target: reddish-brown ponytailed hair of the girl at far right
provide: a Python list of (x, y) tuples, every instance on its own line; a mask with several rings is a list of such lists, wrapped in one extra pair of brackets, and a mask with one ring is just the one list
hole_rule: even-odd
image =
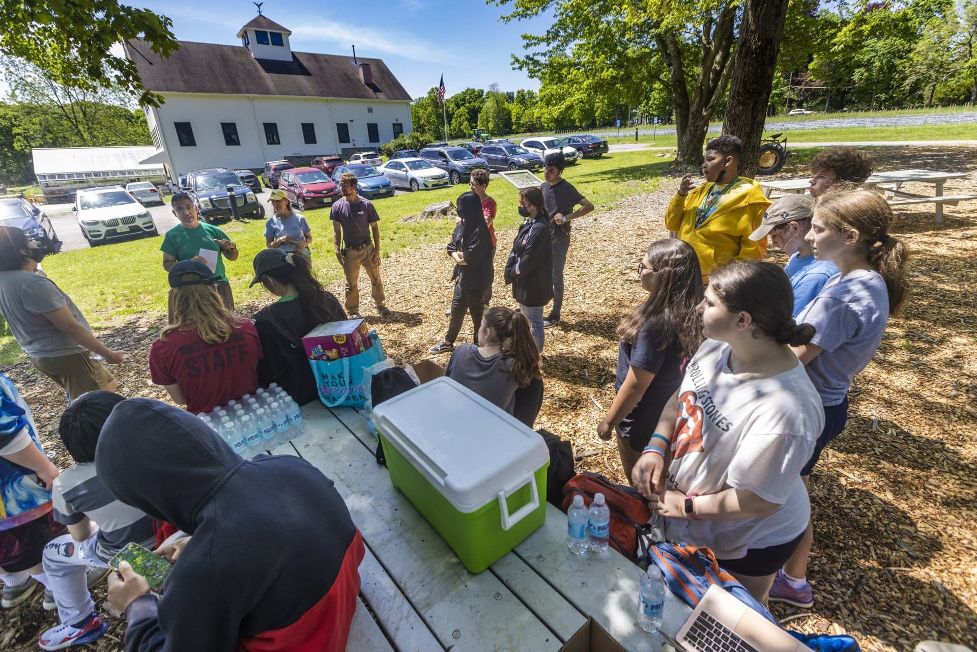
[(867, 247), (866, 258), (885, 281), (889, 314), (898, 315), (909, 294), (906, 245), (889, 234), (892, 208), (881, 196), (864, 189), (831, 189), (818, 198), (815, 214), (835, 231), (858, 231)]

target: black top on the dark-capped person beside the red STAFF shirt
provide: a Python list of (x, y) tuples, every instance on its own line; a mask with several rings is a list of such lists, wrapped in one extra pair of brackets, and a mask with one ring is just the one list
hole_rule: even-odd
[[(328, 322), (346, 320), (346, 311), (330, 292), (326, 292)], [(258, 384), (278, 383), (295, 403), (302, 406), (319, 398), (316, 377), (306, 356), (302, 337), (319, 326), (309, 317), (302, 299), (276, 301), (254, 316), (265, 357), (258, 361)]]

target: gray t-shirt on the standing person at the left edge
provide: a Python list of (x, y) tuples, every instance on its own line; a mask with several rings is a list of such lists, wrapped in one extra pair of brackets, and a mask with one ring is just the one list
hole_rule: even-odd
[(85, 316), (55, 282), (21, 270), (0, 272), (0, 314), (28, 356), (57, 358), (86, 350), (44, 317), (64, 306), (91, 330)]

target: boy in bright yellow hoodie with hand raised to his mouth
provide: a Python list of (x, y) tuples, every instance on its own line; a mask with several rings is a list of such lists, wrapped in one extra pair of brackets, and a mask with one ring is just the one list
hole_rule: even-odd
[(693, 189), (693, 175), (682, 177), (678, 193), (665, 211), (665, 228), (678, 233), (699, 256), (702, 281), (734, 261), (760, 260), (765, 241), (749, 235), (760, 226), (770, 199), (760, 184), (738, 174), (743, 143), (736, 136), (713, 138), (705, 145), (702, 175)]

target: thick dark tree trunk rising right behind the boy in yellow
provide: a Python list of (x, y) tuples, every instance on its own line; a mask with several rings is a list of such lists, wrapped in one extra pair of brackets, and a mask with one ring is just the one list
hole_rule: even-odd
[(786, 13), (787, 0), (746, 0), (743, 6), (723, 133), (743, 141), (739, 170), (744, 177), (756, 172)]

